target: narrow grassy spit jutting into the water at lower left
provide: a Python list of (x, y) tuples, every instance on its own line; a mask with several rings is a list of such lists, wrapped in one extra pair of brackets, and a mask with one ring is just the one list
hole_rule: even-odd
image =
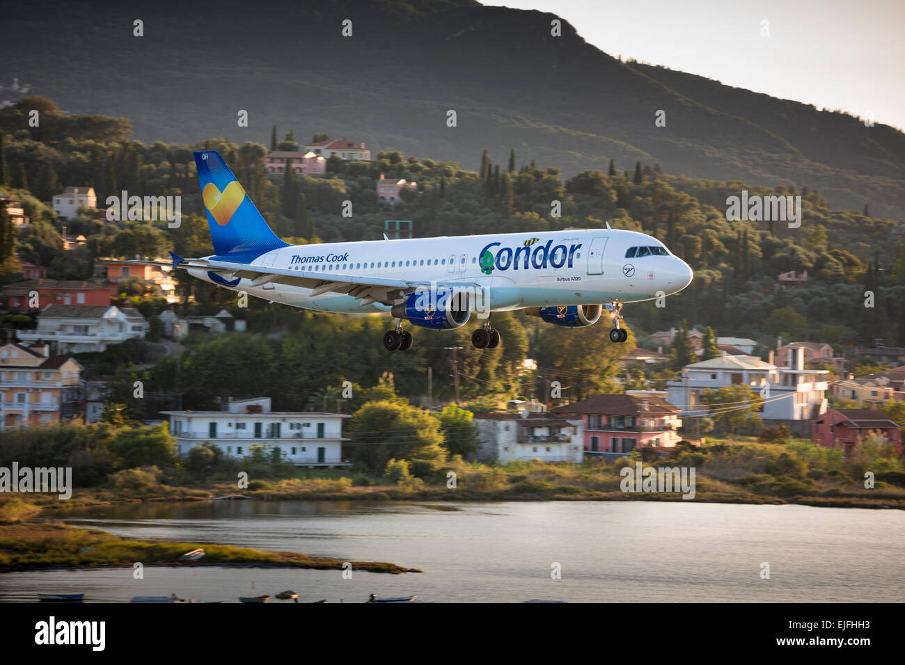
[[(10, 504), (19, 504), (10, 509)], [(230, 565), (280, 568), (342, 569), (340, 559), (307, 556), (297, 552), (263, 552), (248, 547), (207, 545), (199, 543), (155, 543), (114, 536), (92, 528), (69, 527), (46, 522), (18, 520), (24, 504), (19, 499), (0, 505), (0, 572), (39, 570), (45, 568), (132, 567), (143, 565)], [(30, 518), (34, 509), (25, 511)], [(179, 561), (179, 556), (203, 546), (200, 561)], [(352, 561), (355, 570), (372, 573), (420, 573), (415, 568), (379, 561)]]

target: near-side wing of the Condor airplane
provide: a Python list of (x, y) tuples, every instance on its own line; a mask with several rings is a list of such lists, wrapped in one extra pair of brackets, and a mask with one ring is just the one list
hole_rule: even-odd
[[(419, 286), (429, 287), (424, 281), (392, 280), (373, 275), (356, 275), (344, 271), (331, 271), (325, 274), (322, 271), (290, 270), (288, 268), (274, 268), (272, 266), (253, 266), (247, 263), (233, 261), (219, 261), (215, 259), (183, 259), (170, 252), (173, 257), (173, 268), (201, 268), (214, 273), (224, 284), (231, 280), (251, 280), (249, 287), (268, 288), (271, 284), (285, 284), (310, 289), (311, 296), (319, 296), (321, 293), (343, 293), (361, 300), (360, 306), (364, 307), (375, 302), (385, 305), (394, 305), (402, 302), (405, 295), (413, 292)], [(466, 282), (443, 281), (444, 286), (449, 287), (477, 287), (477, 284)], [(228, 284), (226, 284), (228, 285)]]

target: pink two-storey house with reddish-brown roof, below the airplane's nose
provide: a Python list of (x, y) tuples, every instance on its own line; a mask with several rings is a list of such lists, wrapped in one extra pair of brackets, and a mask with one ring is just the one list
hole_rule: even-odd
[(640, 448), (673, 448), (682, 437), (681, 409), (662, 397), (638, 394), (598, 394), (560, 406), (557, 416), (580, 419), (586, 455), (627, 453)]

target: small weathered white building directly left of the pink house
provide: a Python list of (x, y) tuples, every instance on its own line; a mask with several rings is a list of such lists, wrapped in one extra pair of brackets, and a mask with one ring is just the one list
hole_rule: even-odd
[(580, 420), (530, 417), (530, 413), (475, 413), (481, 450), (479, 461), (515, 460), (570, 461), (581, 463), (582, 432)]

